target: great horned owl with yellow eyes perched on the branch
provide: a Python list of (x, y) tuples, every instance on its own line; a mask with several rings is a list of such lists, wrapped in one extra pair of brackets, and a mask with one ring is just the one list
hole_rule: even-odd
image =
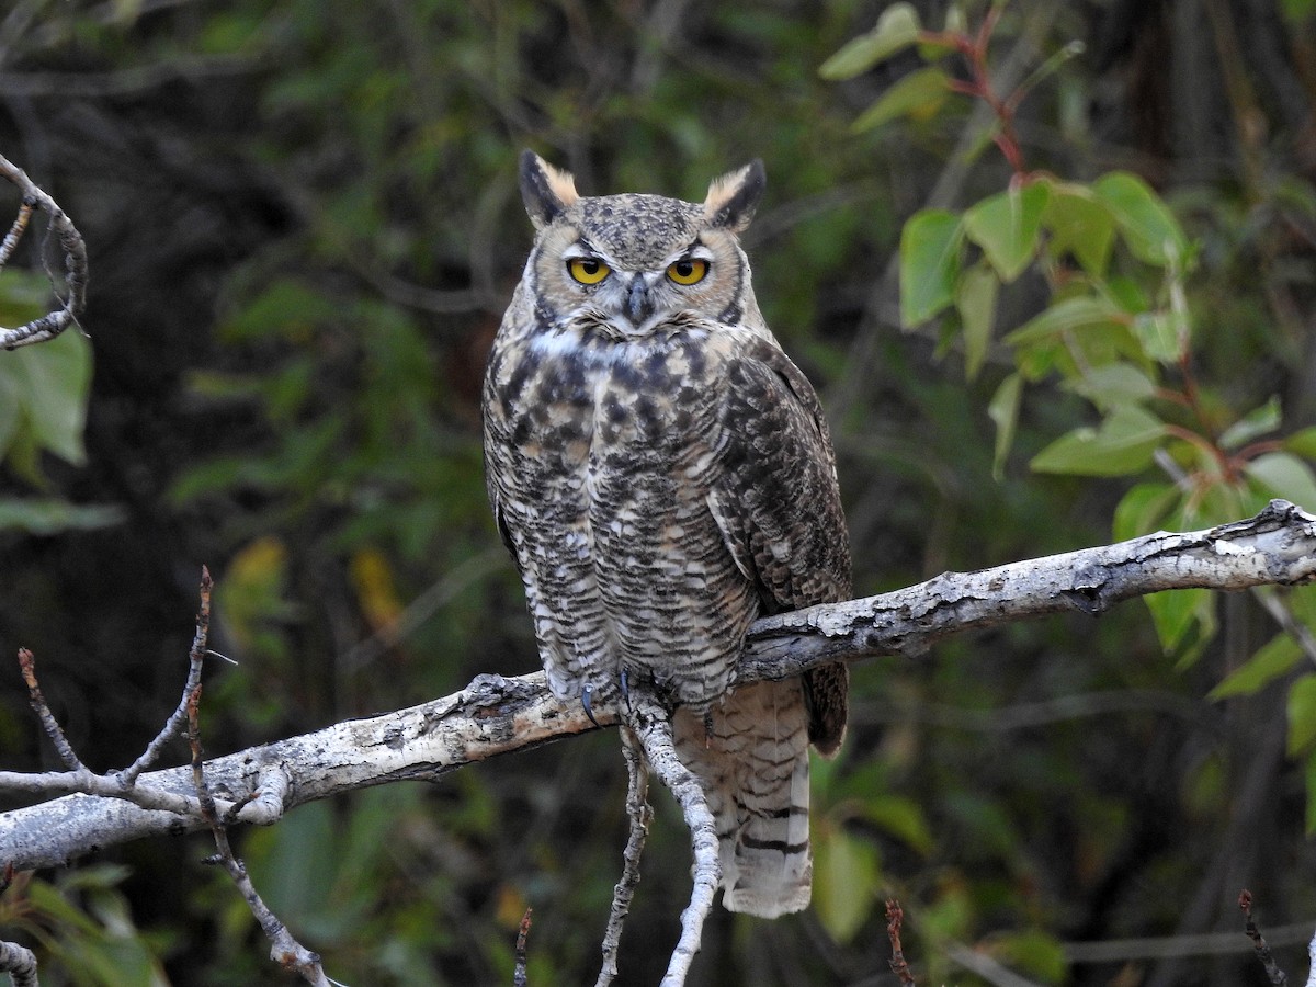
[(775, 917), (809, 901), (808, 745), (840, 746), (848, 678), (737, 688), (736, 665), (759, 615), (848, 599), (850, 550), (817, 395), (737, 240), (763, 184), (755, 161), (703, 203), (584, 197), (526, 151), (537, 237), (490, 355), (484, 459), (549, 687), (679, 704), (722, 903)]

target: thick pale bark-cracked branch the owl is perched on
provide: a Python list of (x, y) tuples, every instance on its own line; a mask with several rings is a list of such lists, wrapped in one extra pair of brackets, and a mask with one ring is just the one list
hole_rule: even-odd
[[(1316, 517), (1277, 500), (1254, 519), (1209, 530), (1162, 532), (976, 572), (946, 572), (882, 596), (766, 617), (750, 628), (740, 682), (788, 678), (833, 661), (919, 655), (963, 630), (1073, 609), (1096, 615), (1161, 590), (1244, 590), (1313, 578)], [(594, 713), (601, 726), (619, 722), (615, 708), (596, 704)], [(472, 761), (591, 729), (578, 703), (562, 704), (549, 694), (542, 674), (480, 675), (455, 695), (220, 757), (205, 770), (224, 819), (263, 824), (305, 801), (434, 779)], [(143, 772), (132, 788), (91, 772), (0, 771), (0, 791), (67, 796), (0, 815), (0, 861), (20, 870), (59, 866), (151, 834), (205, 828), (186, 767)], [(70, 795), (86, 791), (96, 795)]]

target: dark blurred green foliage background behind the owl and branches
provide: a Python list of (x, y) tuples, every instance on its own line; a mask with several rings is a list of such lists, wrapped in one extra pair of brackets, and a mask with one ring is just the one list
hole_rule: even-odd
[[(55, 766), (3, 671), (20, 646), (89, 766), (141, 751), (178, 701), (203, 565), (212, 645), (241, 662), (208, 669), (211, 754), (538, 667), (478, 404), (530, 243), (522, 147), (584, 193), (694, 200), (765, 161), (746, 247), (833, 424), (857, 594), (1108, 542), (1128, 478), (1028, 468), (1090, 407), (1030, 388), (994, 476), (1008, 359), (966, 383), (945, 326), (899, 328), (904, 220), (1011, 171), (973, 139), (967, 100), (853, 129), (921, 64), (911, 50), (820, 78), (883, 7), (11, 0), (0, 153), (78, 224), (91, 283), (89, 341), (0, 353), (3, 766)], [(941, 0), (916, 7), (946, 20)], [(1166, 197), (1200, 245), (1203, 386), (1244, 407), (1279, 395), (1290, 428), (1316, 421), (1312, 8), (1011, 0), (991, 47), (1026, 71), (1084, 42), (1020, 108), (1030, 167), (1124, 168)], [(0, 213), (18, 205), (5, 195)], [(0, 324), (49, 307), (42, 230), (0, 275)], [(1023, 279), (999, 325), (1041, 301)], [(895, 983), (887, 896), (928, 983), (1263, 984), (1242, 887), (1302, 976), (1316, 891), (1286, 691), (1207, 699), (1275, 628), (1246, 595), (1216, 617), (1179, 654), (1133, 601), (857, 667), (849, 740), (816, 770), (816, 907), (776, 923), (717, 908), (691, 984)], [(530, 983), (590, 983), (625, 783), (609, 730), (234, 836), (345, 983), (509, 983), (526, 907)], [(686, 830), (654, 800), (622, 983), (658, 982), (688, 896)], [(21, 878), (0, 936), (37, 945), (51, 984), (288, 982), (201, 866), (212, 849), (158, 840)], [(971, 955), (1024, 979), (957, 961)]]

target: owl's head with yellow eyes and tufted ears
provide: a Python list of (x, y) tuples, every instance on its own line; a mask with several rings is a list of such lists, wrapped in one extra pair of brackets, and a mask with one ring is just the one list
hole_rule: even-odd
[(761, 321), (737, 234), (763, 195), (753, 161), (708, 186), (703, 203), (658, 195), (582, 196), (566, 171), (521, 155), (521, 196), (538, 234), (530, 255), (538, 304), (616, 338), (653, 333), (676, 313)]

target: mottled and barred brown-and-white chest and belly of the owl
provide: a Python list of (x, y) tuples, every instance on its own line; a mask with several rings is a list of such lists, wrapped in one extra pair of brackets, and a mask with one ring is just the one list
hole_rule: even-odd
[(501, 508), (562, 696), (613, 699), (622, 671), (696, 707), (729, 686), (758, 612), (707, 497), (737, 336), (678, 318), (636, 340), (569, 325), (495, 350)]

